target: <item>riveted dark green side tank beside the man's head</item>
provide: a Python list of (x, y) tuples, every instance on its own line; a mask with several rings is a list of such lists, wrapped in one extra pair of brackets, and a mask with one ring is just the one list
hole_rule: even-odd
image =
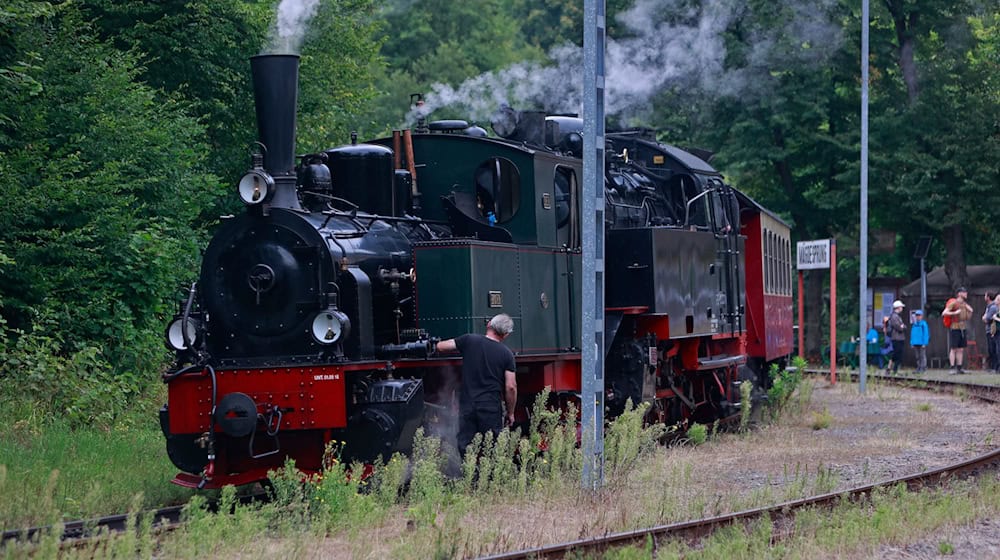
[(506, 243), (460, 240), (417, 244), (417, 325), (431, 336), (452, 338), (486, 332), (486, 322), (498, 313), (514, 320), (506, 343), (523, 350), (520, 258), (518, 247)]

